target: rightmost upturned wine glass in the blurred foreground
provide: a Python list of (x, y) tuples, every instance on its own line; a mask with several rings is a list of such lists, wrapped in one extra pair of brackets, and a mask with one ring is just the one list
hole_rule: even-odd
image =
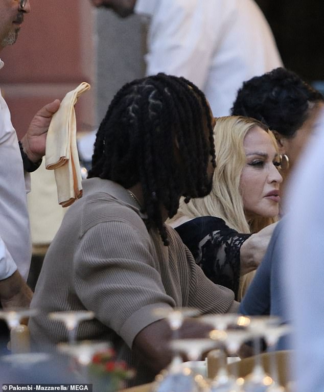
[(278, 367), (276, 363), (276, 356), (275, 356), (275, 351), (272, 349), (275, 349), (275, 346), (279, 339), (290, 333), (292, 330), (291, 326), (288, 324), (281, 324), (279, 326), (276, 325), (269, 325), (266, 327), (265, 331), (265, 340), (266, 343), (270, 349), (270, 373), (271, 373), (271, 378), (273, 380), (272, 384), (269, 386), (267, 389), (267, 392), (284, 392), (285, 388), (280, 385), (279, 383), (279, 377), (278, 377)]

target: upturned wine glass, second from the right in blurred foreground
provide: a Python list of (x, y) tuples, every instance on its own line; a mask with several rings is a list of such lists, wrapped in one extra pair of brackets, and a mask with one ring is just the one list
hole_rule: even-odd
[(253, 337), (254, 366), (252, 372), (245, 377), (245, 392), (265, 392), (271, 383), (272, 378), (266, 374), (261, 361), (261, 338), (265, 336), (265, 331), (269, 326), (278, 326), (280, 318), (277, 316), (246, 316), (246, 328)]

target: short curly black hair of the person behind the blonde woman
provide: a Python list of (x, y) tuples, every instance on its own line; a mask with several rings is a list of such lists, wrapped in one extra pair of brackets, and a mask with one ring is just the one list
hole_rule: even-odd
[(279, 67), (244, 82), (231, 114), (252, 117), (284, 137), (293, 137), (308, 118), (309, 103), (319, 101), (324, 101), (319, 91)]

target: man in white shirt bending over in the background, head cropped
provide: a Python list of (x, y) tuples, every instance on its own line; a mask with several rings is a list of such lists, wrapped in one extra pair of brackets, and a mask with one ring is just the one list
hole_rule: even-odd
[(254, 0), (91, 0), (120, 16), (150, 17), (146, 75), (184, 76), (227, 116), (243, 81), (282, 66)]

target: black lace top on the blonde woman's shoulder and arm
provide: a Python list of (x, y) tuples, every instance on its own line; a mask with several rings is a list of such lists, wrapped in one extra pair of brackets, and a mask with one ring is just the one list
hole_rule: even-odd
[(250, 234), (239, 234), (223, 219), (212, 216), (192, 219), (175, 229), (207, 278), (232, 289), (237, 298), (240, 249)]

